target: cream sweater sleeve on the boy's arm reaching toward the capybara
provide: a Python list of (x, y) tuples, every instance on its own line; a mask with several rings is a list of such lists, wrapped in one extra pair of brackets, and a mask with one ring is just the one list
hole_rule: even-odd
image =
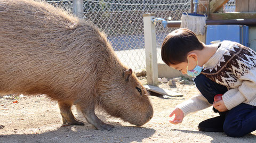
[(177, 105), (176, 108), (180, 108), (184, 116), (186, 116), (189, 113), (203, 110), (211, 105), (203, 95), (197, 95)]

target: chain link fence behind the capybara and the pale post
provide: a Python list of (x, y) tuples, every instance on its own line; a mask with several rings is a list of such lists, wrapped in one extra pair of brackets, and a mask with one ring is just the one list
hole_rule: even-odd
[[(234, 12), (235, 0), (225, 5), (226, 12)], [(73, 12), (73, 1), (47, 1)], [(146, 69), (143, 17), (155, 13), (157, 18), (180, 20), (182, 12), (190, 12), (191, 0), (85, 0), (84, 19), (93, 22), (107, 34), (119, 60), (135, 72)], [(157, 59), (161, 60), (161, 45), (167, 33), (177, 28), (156, 25)], [(162, 60), (161, 60), (162, 61)]]

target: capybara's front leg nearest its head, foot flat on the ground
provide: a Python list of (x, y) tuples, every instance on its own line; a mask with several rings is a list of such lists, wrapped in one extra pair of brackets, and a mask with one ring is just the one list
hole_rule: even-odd
[(80, 110), (82, 111), (83, 115), (85, 116), (85, 119), (87, 120), (87, 122), (89, 122), (90, 124), (92, 124), (96, 129), (98, 130), (111, 130), (112, 128), (114, 128), (114, 125), (111, 124), (106, 124), (104, 122), (102, 122), (96, 115), (94, 112), (94, 107), (89, 107), (89, 108), (80, 108)]

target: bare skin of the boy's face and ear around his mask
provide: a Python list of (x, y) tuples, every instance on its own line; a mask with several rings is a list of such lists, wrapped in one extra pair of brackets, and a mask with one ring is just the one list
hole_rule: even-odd
[(169, 65), (171, 68), (179, 70), (182, 74), (187, 74), (187, 70), (193, 70), (196, 67), (196, 59), (193, 57), (188, 57), (188, 62), (181, 62), (179, 64), (171, 64)]

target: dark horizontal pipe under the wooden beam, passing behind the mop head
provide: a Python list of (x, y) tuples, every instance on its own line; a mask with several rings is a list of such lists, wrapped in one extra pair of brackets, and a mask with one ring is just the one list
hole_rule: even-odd
[[(167, 21), (167, 27), (180, 27), (181, 21)], [(256, 26), (256, 19), (207, 20), (206, 25), (246, 25)]]

